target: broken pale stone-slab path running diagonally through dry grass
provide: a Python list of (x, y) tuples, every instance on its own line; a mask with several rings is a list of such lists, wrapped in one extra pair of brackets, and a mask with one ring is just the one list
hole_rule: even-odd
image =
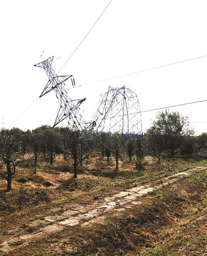
[(25, 246), (35, 238), (62, 231), (65, 225), (75, 226), (81, 224), (82, 226), (85, 226), (89, 223), (105, 218), (105, 213), (110, 211), (124, 211), (125, 208), (131, 208), (139, 204), (140, 202), (137, 199), (142, 195), (153, 192), (154, 190), (159, 190), (161, 187), (174, 183), (181, 177), (189, 176), (197, 170), (202, 171), (205, 169), (206, 168), (198, 167), (184, 172), (179, 172), (173, 176), (164, 178), (161, 184), (151, 187), (132, 187), (126, 191), (119, 192), (112, 197), (106, 197), (104, 199), (104, 204), (94, 203), (88, 206), (76, 205), (72, 209), (64, 211), (61, 215), (51, 215), (46, 216), (44, 219), (37, 219), (29, 224), (29, 227), (35, 227), (38, 229), (36, 232), (23, 234), (21, 236), (11, 237), (7, 235), (0, 237), (0, 241), (2, 241), (2, 244), (0, 244), (0, 251), (7, 252), (16, 249), (19, 246)]

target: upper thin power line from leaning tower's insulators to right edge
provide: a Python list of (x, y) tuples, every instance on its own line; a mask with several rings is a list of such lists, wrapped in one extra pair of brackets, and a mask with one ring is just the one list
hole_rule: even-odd
[(160, 68), (164, 68), (164, 67), (166, 67), (166, 66), (171, 66), (171, 65), (175, 65), (175, 64), (180, 64), (180, 63), (183, 63), (183, 62), (192, 61), (192, 60), (197, 60), (197, 59), (201, 59), (201, 58), (205, 58), (205, 57), (207, 57), (207, 55), (199, 56), (199, 57), (192, 58), (192, 59), (187, 59), (187, 60), (181, 60), (181, 61), (177, 61), (177, 62), (172, 62), (172, 63), (168, 63), (168, 64), (161, 65), (161, 66), (155, 66), (155, 67), (153, 67), (153, 68), (149, 68), (149, 69), (145, 69), (145, 70), (139, 70), (139, 71), (131, 72), (131, 73), (124, 74), (124, 75), (113, 76), (113, 77), (109, 77), (109, 78), (97, 80), (97, 81), (94, 81), (94, 82), (90, 82), (90, 83), (87, 83), (87, 84), (83, 84), (83, 85), (80, 85), (79, 87), (86, 86), (86, 85), (91, 85), (91, 84), (96, 84), (96, 83), (104, 82), (104, 81), (107, 81), (107, 80), (111, 80), (111, 79), (115, 79), (115, 78), (119, 78), (119, 77), (123, 77), (123, 76), (134, 75), (134, 74), (138, 74), (138, 73), (142, 73), (142, 72), (146, 72), (146, 71), (150, 71), (150, 70), (160, 69)]

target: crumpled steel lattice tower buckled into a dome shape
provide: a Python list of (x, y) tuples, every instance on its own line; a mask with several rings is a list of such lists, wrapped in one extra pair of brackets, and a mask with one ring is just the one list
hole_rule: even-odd
[(98, 131), (118, 132), (129, 139), (142, 134), (139, 100), (136, 93), (126, 86), (109, 86), (108, 91), (101, 95), (92, 119)]

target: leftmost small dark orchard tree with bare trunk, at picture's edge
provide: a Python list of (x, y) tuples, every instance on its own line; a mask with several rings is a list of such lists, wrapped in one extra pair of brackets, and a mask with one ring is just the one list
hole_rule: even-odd
[[(16, 173), (16, 167), (22, 161), (22, 142), (19, 138), (19, 129), (2, 129), (0, 131), (0, 157), (6, 167), (5, 179), (7, 191), (11, 190), (11, 180)], [(4, 168), (4, 167), (3, 167)]]

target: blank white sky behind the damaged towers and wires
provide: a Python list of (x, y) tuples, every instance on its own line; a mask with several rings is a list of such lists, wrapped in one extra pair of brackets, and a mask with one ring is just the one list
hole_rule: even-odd
[[(33, 65), (54, 56), (57, 72), (109, 0), (0, 1), (0, 122), (8, 128), (40, 95), (46, 73)], [(207, 58), (91, 85), (80, 85), (207, 54), (205, 0), (113, 0), (59, 75), (73, 75), (72, 99), (86, 98), (90, 120), (100, 93), (124, 84), (137, 93), (141, 110), (207, 99)], [(59, 28), (59, 29), (58, 29)], [(58, 29), (58, 31), (57, 31)], [(40, 58), (41, 52), (45, 50)], [(207, 131), (207, 102), (174, 107), (197, 133)], [(38, 99), (13, 126), (53, 125), (53, 92)], [(156, 112), (142, 114), (144, 130)], [(64, 123), (63, 123), (64, 125)], [(2, 124), (0, 123), (0, 127)]]

